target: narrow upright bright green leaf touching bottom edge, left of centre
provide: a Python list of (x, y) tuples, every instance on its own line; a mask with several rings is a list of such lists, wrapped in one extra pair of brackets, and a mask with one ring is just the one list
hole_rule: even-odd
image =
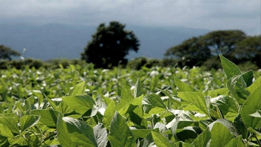
[(62, 120), (62, 114), (59, 113), (57, 118), (57, 138), (59, 143), (64, 147), (74, 147), (66, 123)]

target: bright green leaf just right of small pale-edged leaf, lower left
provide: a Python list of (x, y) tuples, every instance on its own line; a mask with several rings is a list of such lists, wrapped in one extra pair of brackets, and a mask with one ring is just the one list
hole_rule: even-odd
[(50, 128), (56, 128), (59, 111), (38, 109), (38, 110), (31, 110), (30, 114), (41, 116), (39, 120), (41, 123), (43, 123), (45, 126), (48, 126)]

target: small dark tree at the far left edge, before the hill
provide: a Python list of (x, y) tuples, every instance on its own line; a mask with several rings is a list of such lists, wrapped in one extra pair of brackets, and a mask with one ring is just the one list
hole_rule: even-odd
[(11, 56), (20, 56), (20, 53), (15, 50), (0, 44), (0, 59), (12, 60)]

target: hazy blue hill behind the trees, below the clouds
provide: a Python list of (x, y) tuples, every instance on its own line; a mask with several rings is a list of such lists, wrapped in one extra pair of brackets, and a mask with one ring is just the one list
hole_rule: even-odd
[[(22, 52), (25, 58), (41, 60), (54, 58), (80, 58), (80, 53), (95, 33), (97, 26), (84, 25), (30, 25), (0, 24), (0, 44)], [(138, 53), (131, 52), (127, 58), (163, 58), (166, 50), (192, 36), (205, 34), (208, 30), (184, 27), (147, 27), (126, 25), (140, 40)]]

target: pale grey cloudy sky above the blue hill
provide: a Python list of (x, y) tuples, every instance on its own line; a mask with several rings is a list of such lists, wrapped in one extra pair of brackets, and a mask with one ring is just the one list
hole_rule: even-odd
[(1, 23), (183, 26), (260, 34), (260, 0), (0, 0)]

